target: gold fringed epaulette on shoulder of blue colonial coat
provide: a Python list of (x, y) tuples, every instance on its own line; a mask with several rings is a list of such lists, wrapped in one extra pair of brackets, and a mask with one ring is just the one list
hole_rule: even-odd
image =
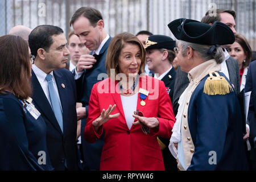
[(233, 87), (229, 84), (224, 76), (218, 75), (217, 72), (209, 72), (209, 77), (204, 84), (204, 93), (208, 95), (225, 95), (233, 92)]

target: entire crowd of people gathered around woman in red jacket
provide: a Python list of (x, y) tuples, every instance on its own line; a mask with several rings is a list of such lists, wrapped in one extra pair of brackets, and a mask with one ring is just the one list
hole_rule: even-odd
[(67, 38), (12, 28), (0, 37), (0, 170), (256, 170), (256, 63), (235, 19), (173, 20), (176, 40), (112, 38), (92, 7)]

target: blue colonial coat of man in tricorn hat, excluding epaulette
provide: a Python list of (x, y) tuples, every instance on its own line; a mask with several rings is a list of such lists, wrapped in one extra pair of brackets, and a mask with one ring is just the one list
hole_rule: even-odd
[[(187, 170), (247, 170), (242, 114), (236, 93), (205, 94), (208, 77), (199, 83), (189, 101), (188, 126), (195, 152)], [(211, 156), (216, 157), (215, 164), (209, 163)]]

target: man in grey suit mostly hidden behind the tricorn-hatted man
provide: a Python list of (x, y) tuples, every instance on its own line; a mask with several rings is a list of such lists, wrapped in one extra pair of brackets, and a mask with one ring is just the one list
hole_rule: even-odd
[[(224, 10), (217, 9), (216, 15), (211, 15), (211, 11), (208, 11), (201, 22), (212, 25), (214, 22), (225, 23), (230, 27), (234, 34), (236, 34), (236, 30), (234, 27), (236, 26), (236, 12), (233, 10)], [(233, 59), (229, 56), (226, 51), (226, 46), (222, 46), (224, 48), (225, 60), (221, 63), (221, 72), (225, 74), (226, 77), (230, 80), (232, 85), (234, 86), (234, 90), (236, 94), (240, 93), (240, 72), (239, 65), (237, 60)], [(174, 108), (174, 114), (177, 114), (177, 109), (179, 107), (178, 101), (181, 94), (184, 92), (185, 88), (187, 88), (189, 84), (188, 74), (182, 72), (180, 67), (177, 69), (176, 81), (174, 86), (174, 100), (172, 102), (172, 106)]]

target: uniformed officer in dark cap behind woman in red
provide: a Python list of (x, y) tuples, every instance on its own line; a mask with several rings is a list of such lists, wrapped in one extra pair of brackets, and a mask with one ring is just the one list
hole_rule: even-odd
[[(175, 58), (174, 48), (176, 41), (166, 35), (151, 35), (144, 46), (147, 51), (146, 61), (150, 71), (154, 72), (154, 77), (162, 80), (166, 86), (166, 91), (172, 101), (174, 95), (174, 82), (176, 71), (172, 67)], [(158, 143), (162, 150), (164, 168), (166, 170), (177, 171), (177, 163), (168, 148), (170, 138), (158, 137)]]

